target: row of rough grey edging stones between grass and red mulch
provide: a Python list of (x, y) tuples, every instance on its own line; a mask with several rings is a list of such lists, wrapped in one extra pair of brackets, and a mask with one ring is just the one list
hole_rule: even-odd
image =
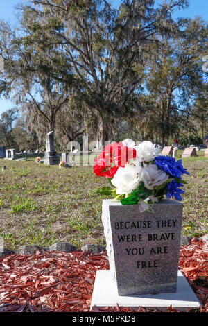
[[(199, 237), (198, 239), (202, 239), (202, 241), (207, 241), (208, 240), (208, 234), (203, 235), (202, 237)], [(182, 236), (180, 245), (181, 246), (189, 246), (191, 243), (191, 238), (187, 236)], [(73, 252), (73, 251), (86, 251), (86, 252), (91, 252), (92, 254), (98, 254), (105, 250), (106, 248), (96, 244), (96, 243), (89, 243), (85, 244), (82, 246), (80, 249), (78, 249), (76, 246), (71, 245), (71, 243), (68, 242), (56, 242), (53, 243), (52, 246), (49, 247), (40, 247), (36, 245), (25, 245), (19, 247), (17, 250), (10, 250), (7, 248), (3, 248), (3, 251), (0, 251), (0, 257), (5, 257), (8, 255), (30, 255), (30, 254), (35, 254), (35, 252), (38, 250), (44, 250), (44, 251), (59, 251), (59, 252)]]

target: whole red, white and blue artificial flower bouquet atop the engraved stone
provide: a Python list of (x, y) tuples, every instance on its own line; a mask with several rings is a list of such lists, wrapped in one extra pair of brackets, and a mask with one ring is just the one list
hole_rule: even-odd
[(103, 187), (98, 194), (113, 196), (123, 205), (139, 205), (139, 211), (164, 198), (182, 200), (181, 188), (186, 183), (182, 175), (189, 173), (182, 160), (160, 154), (150, 141), (136, 145), (132, 139), (108, 144), (94, 160), (96, 176), (107, 178), (111, 187)]

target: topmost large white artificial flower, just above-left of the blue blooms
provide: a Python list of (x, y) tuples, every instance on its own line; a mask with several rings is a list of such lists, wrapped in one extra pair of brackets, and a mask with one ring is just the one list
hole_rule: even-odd
[(135, 146), (137, 157), (135, 161), (151, 162), (159, 155), (160, 148), (155, 147), (151, 141), (142, 141), (141, 144)]

